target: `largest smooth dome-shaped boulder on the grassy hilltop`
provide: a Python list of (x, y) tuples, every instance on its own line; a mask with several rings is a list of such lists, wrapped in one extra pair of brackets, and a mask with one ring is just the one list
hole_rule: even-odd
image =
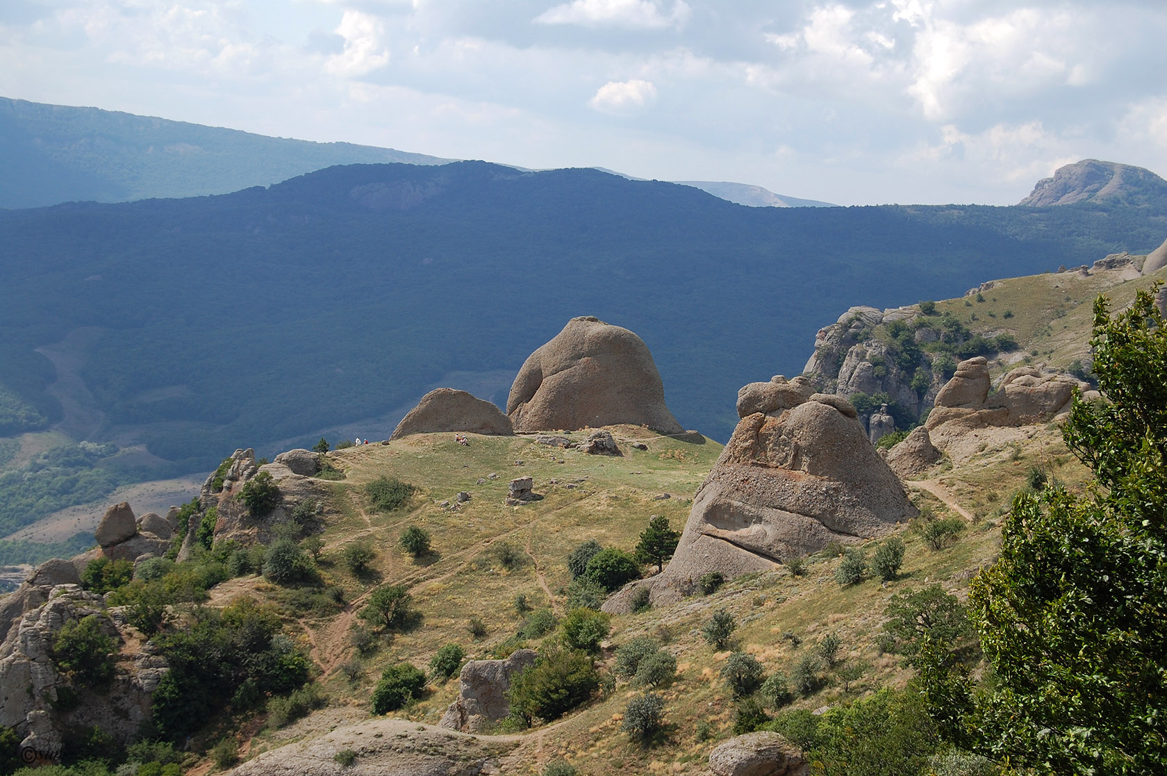
[(648, 345), (619, 326), (573, 317), (524, 362), (506, 399), (517, 433), (616, 424), (684, 432), (664, 403)]

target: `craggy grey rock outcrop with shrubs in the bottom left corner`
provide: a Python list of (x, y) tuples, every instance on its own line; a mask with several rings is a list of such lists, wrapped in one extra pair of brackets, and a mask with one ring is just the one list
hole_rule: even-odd
[[(53, 642), (68, 622), (95, 615), (105, 635), (125, 643), (127, 625), (104, 604), (100, 595), (77, 585), (56, 585), (44, 603), (8, 629), (0, 643), (0, 725), (15, 728), (23, 736), (21, 746), (60, 753), (65, 730), (93, 726), (125, 746), (149, 716), (151, 693), (167, 671), (165, 659), (151, 646), (119, 655), (113, 680), (102, 694), (72, 686), (56, 669)], [(65, 687), (76, 698), (75, 705), (58, 702)]]

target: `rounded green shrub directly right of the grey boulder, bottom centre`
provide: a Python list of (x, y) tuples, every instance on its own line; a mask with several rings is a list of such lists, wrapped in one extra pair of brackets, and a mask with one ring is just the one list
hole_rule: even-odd
[(575, 708), (600, 686), (600, 674), (586, 652), (544, 648), (534, 664), (511, 677), (506, 697), (511, 712), (530, 725), (555, 720)]

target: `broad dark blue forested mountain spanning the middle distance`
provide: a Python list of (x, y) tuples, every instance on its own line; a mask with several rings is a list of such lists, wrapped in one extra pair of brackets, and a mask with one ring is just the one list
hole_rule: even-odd
[(391, 424), (427, 386), (462, 387), (452, 372), (496, 372), (487, 398), (504, 401), (497, 370), (591, 314), (640, 334), (677, 418), (726, 439), (738, 387), (797, 375), (848, 306), (1145, 253), (1163, 233), (1148, 209), (757, 209), (484, 162), (5, 211), (0, 433), (78, 410), (82, 436), (205, 470), (239, 446)]

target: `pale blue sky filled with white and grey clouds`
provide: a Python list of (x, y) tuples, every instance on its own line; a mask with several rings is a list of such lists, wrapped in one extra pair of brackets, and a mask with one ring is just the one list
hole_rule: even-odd
[(0, 0), (0, 96), (837, 204), (1167, 176), (1167, 2)]

